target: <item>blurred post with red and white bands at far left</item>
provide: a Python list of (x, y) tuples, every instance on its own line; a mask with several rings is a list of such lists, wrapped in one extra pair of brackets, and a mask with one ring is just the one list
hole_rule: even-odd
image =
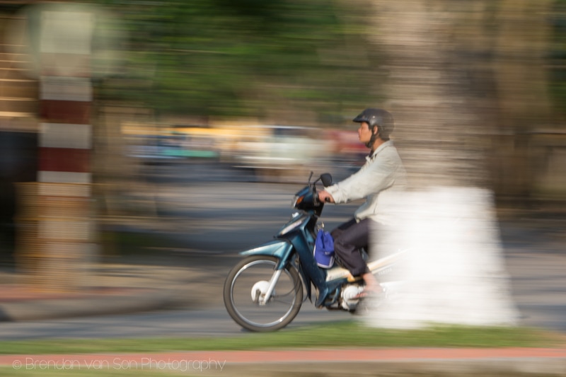
[(35, 282), (50, 290), (79, 289), (92, 257), (92, 86), (94, 15), (58, 4), (40, 14), (40, 135), (37, 229), (27, 260)]

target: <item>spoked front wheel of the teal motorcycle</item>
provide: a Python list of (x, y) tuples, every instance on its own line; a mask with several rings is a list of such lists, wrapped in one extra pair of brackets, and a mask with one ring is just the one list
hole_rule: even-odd
[(263, 302), (275, 275), (277, 258), (252, 256), (231, 269), (224, 283), (224, 305), (233, 320), (250, 331), (274, 331), (291, 323), (303, 303), (299, 273), (287, 266), (267, 301)]

